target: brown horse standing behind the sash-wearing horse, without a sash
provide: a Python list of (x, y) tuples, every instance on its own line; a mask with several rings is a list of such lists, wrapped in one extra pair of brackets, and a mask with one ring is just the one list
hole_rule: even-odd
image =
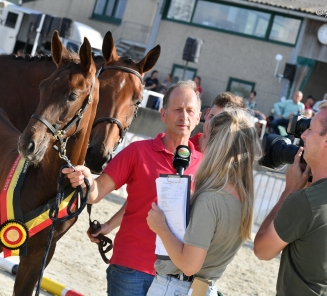
[[(85, 165), (100, 173), (111, 159), (130, 126), (143, 98), (142, 77), (157, 62), (160, 46), (157, 45), (138, 63), (120, 57), (110, 32), (104, 37), (102, 57), (96, 57), (101, 67), (100, 100), (95, 125), (91, 132)], [(39, 102), (39, 84), (55, 70), (51, 57), (28, 59), (0, 56), (0, 107), (10, 121), (23, 131)]]

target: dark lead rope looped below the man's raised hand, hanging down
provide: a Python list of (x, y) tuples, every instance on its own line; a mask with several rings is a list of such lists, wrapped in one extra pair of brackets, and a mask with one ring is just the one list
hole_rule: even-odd
[[(64, 160), (66, 160), (64, 158)], [(67, 161), (67, 160), (66, 160)], [(58, 182), (57, 182), (57, 195), (56, 195), (56, 203), (53, 204), (49, 210), (49, 218), (52, 220), (52, 226), (50, 228), (49, 231), (49, 235), (48, 235), (48, 242), (45, 248), (45, 253), (43, 256), (43, 260), (42, 260), (42, 266), (41, 266), (41, 271), (40, 271), (40, 275), (39, 275), (39, 279), (37, 282), (37, 286), (36, 286), (36, 291), (35, 291), (35, 296), (39, 296), (40, 293), (40, 286), (41, 286), (41, 281), (43, 278), (43, 272), (45, 269), (45, 265), (46, 265), (46, 261), (48, 258), (48, 254), (49, 254), (49, 250), (50, 250), (50, 246), (51, 246), (51, 242), (52, 242), (52, 238), (53, 238), (53, 234), (55, 231), (55, 227), (57, 222), (64, 222), (67, 220), (70, 220), (76, 216), (78, 216), (83, 209), (85, 208), (88, 198), (89, 198), (89, 194), (90, 194), (90, 183), (88, 181), (88, 179), (84, 178), (84, 183), (86, 186), (86, 191), (85, 191), (85, 195), (84, 195), (84, 190), (82, 188), (81, 185), (79, 185), (76, 188), (76, 192), (74, 194), (74, 197), (69, 201), (69, 204), (67, 206), (67, 216), (62, 217), (62, 218), (58, 218), (58, 214), (59, 214), (59, 207), (61, 202), (63, 201), (65, 194), (64, 194), (64, 175), (62, 173), (62, 169), (63, 168), (73, 168), (74, 166), (70, 163), (70, 161), (68, 160), (68, 164), (64, 165), (61, 167), (60, 172), (59, 172), (59, 176), (58, 176)], [(74, 204), (74, 201), (76, 200), (76, 198), (78, 198), (78, 196), (80, 197), (81, 203), (80, 203), (80, 207), (75, 211), (75, 212), (71, 212), (71, 207)]]

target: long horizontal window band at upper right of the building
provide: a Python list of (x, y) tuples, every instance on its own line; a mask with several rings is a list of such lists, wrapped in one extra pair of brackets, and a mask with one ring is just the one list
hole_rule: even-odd
[(219, 0), (170, 0), (164, 18), (290, 46), (302, 23), (298, 17)]

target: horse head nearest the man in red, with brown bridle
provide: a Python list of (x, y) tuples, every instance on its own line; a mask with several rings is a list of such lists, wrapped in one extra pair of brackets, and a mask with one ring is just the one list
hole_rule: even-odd
[(100, 173), (122, 141), (143, 99), (143, 75), (160, 55), (160, 46), (151, 49), (138, 63), (117, 55), (110, 32), (104, 37), (100, 70), (100, 101), (90, 136), (85, 165)]

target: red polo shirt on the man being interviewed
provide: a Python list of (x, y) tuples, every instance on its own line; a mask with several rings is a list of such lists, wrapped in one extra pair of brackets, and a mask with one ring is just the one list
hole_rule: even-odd
[[(116, 234), (110, 263), (155, 274), (155, 233), (146, 222), (152, 202), (157, 202), (155, 179), (160, 174), (176, 174), (173, 153), (162, 143), (165, 134), (155, 139), (131, 143), (119, 152), (107, 165), (104, 173), (115, 182), (117, 189), (127, 184), (127, 206), (120, 229)], [(191, 142), (191, 161), (184, 175), (194, 174), (202, 160), (202, 154)]]

